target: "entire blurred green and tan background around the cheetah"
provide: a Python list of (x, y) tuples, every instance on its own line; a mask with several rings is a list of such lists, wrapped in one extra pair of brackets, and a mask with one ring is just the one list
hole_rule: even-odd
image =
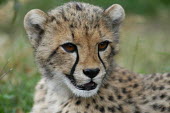
[[(31, 9), (48, 11), (70, 0), (0, 0), (0, 113), (28, 113), (40, 74), (23, 28)], [(77, 0), (78, 1), (78, 0)], [(170, 0), (79, 0), (107, 8), (121, 4), (117, 63), (136, 73), (170, 72)]]

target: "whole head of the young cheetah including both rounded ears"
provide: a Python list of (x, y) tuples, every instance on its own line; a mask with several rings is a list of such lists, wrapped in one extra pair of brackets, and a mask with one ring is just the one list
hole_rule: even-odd
[(76, 96), (90, 97), (109, 76), (123, 19), (124, 10), (117, 4), (103, 10), (71, 2), (48, 14), (31, 10), (24, 27), (40, 72), (62, 81)]

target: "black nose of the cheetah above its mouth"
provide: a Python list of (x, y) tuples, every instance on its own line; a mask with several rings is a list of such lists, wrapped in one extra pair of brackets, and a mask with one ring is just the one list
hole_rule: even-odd
[(94, 78), (95, 76), (97, 76), (97, 74), (99, 73), (100, 69), (96, 68), (96, 69), (84, 69), (83, 73), (90, 77), (90, 78)]

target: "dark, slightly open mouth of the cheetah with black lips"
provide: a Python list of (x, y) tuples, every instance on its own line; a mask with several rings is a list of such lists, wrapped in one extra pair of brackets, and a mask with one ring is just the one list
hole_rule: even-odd
[(86, 84), (83, 84), (83, 85), (77, 85), (76, 80), (73, 76), (67, 75), (66, 77), (79, 90), (90, 91), (90, 90), (93, 90), (97, 87), (97, 84), (95, 82), (93, 82), (92, 80), (89, 83), (86, 83)]

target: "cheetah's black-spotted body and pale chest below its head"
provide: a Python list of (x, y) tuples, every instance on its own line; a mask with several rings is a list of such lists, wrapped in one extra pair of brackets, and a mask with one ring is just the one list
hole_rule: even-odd
[[(98, 94), (90, 98), (57, 96), (57, 91), (48, 92), (44, 78), (36, 87), (33, 113), (169, 113), (169, 78), (168, 73), (137, 75), (116, 67)], [(48, 96), (53, 96), (52, 100)]]

